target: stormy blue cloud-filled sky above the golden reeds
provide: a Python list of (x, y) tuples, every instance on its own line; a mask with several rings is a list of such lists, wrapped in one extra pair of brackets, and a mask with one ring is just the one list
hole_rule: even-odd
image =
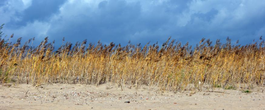
[[(3, 32), (35, 42), (159, 44), (170, 36), (249, 44), (265, 35), (264, 0), (1, 0)], [(264, 38), (264, 37), (263, 37)], [(22, 40), (22, 41), (23, 41)]]

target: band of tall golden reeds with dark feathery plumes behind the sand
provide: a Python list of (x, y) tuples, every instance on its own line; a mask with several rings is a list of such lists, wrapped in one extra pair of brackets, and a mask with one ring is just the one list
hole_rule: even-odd
[[(10, 36), (13, 38), (13, 35)], [(231, 45), (203, 38), (199, 44), (182, 45), (170, 38), (156, 44), (122, 47), (89, 43), (87, 40), (63, 43), (55, 50), (46, 37), (37, 47), (34, 38), (21, 45), (21, 38), (11, 43), (0, 39), (0, 81), (6, 83), (69, 83), (100, 85), (156, 86), (160, 90), (182, 92), (265, 84), (265, 43), (262, 37), (248, 45)]]

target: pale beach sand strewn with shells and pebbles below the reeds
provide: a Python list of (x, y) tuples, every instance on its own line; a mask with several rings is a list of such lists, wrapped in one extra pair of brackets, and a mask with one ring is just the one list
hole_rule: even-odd
[[(150, 91), (149, 91), (150, 90)], [(160, 92), (155, 88), (99, 85), (0, 85), (0, 109), (113, 109), (113, 110), (257, 110), (265, 109), (265, 94), (241, 90), (205, 89), (202, 92)], [(223, 92), (223, 93), (221, 93)], [(129, 101), (130, 103), (125, 103)]]

